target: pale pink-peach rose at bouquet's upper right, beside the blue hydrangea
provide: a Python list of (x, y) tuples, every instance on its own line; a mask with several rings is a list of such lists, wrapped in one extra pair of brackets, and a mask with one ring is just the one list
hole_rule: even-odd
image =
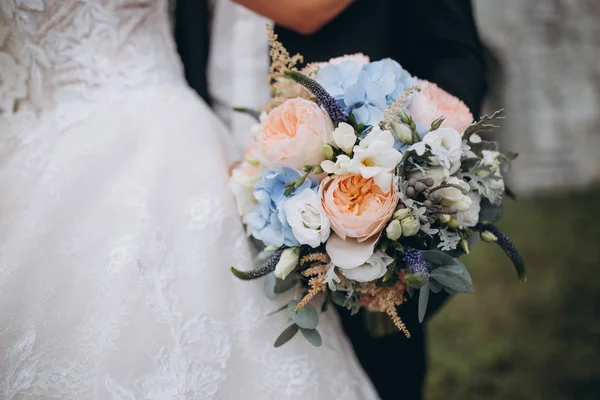
[(473, 114), (463, 101), (429, 81), (420, 79), (419, 87), (421, 91), (413, 96), (408, 106), (415, 122), (429, 128), (433, 121), (444, 116), (442, 127), (453, 128), (461, 134), (471, 125)]

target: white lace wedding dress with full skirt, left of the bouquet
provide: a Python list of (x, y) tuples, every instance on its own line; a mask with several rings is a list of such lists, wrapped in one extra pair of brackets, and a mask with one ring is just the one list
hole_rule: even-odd
[[(162, 0), (0, 0), (0, 398), (369, 399), (261, 282)], [(285, 301), (285, 300), (282, 300)]]

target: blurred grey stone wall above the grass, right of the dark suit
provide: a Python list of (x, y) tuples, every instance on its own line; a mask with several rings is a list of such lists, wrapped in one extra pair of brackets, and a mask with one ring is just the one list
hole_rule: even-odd
[(600, 0), (475, 0), (520, 193), (600, 181)]

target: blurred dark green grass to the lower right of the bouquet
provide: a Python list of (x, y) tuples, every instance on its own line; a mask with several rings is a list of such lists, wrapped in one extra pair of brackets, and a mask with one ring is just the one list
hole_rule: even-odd
[(475, 295), (429, 324), (428, 400), (600, 399), (600, 189), (511, 202), (500, 228), (528, 268), (480, 243)]

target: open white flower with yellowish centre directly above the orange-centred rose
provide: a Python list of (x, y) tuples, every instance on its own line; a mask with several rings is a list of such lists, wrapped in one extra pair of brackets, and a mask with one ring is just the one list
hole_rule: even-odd
[(394, 176), (392, 171), (401, 159), (402, 153), (394, 149), (392, 133), (375, 126), (358, 146), (354, 146), (350, 172), (359, 173), (366, 179), (374, 178), (375, 184), (388, 193)]

